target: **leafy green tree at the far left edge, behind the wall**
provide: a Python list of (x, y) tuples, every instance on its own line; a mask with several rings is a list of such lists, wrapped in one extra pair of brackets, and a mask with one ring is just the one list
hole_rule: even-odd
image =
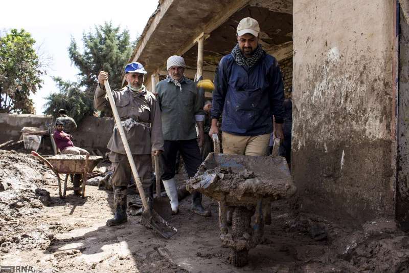
[(24, 29), (0, 36), (0, 112), (33, 114), (29, 98), (41, 88), (44, 66), (33, 48), (35, 40)]

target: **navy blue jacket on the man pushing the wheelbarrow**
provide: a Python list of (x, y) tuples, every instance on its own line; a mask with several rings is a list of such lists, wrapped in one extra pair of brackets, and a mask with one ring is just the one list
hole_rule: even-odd
[(214, 79), (212, 118), (223, 112), (223, 132), (257, 136), (272, 132), (272, 115), (283, 123), (284, 88), (275, 57), (264, 55), (249, 68), (232, 54), (221, 58)]

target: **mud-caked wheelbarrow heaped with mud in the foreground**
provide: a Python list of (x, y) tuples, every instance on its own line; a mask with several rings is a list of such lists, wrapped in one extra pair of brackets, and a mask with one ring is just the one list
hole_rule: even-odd
[(215, 152), (186, 188), (219, 201), (220, 239), (231, 249), (232, 264), (241, 267), (271, 223), (271, 202), (291, 197), (297, 188), (284, 157), (220, 154), (216, 134), (213, 141)]

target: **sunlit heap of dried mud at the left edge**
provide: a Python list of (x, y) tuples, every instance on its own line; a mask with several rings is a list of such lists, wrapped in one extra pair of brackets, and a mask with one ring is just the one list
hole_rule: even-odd
[(27, 233), (43, 205), (51, 204), (50, 194), (41, 188), (46, 171), (31, 155), (0, 150), (0, 253), (35, 248), (52, 237), (41, 227)]

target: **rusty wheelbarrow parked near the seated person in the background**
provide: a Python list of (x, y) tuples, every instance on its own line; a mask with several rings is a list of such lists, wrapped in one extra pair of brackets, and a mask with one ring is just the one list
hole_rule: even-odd
[[(69, 175), (82, 175), (82, 198), (85, 197), (86, 174), (92, 171), (98, 162), (103, 158), (102, 156), (86, 155), (55, 155), (47, 159), (40, 156), (38, 153), (32, 151), (33, 156), (38, 157), (50, 167), (55, 173), (58, 180), (58, 194), (61, 199), (65, 198), (67, 189), (67, 180)], [(60, 174), (65, 174), (64, 186), (61, 188)]]

